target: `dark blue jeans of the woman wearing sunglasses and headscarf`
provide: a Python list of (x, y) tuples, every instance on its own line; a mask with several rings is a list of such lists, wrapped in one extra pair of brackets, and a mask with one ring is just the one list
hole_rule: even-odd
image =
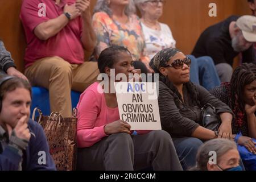
[(196, 165), (196, 153), (203, 142), (198, 138), (172, 138), (183, 170)]

